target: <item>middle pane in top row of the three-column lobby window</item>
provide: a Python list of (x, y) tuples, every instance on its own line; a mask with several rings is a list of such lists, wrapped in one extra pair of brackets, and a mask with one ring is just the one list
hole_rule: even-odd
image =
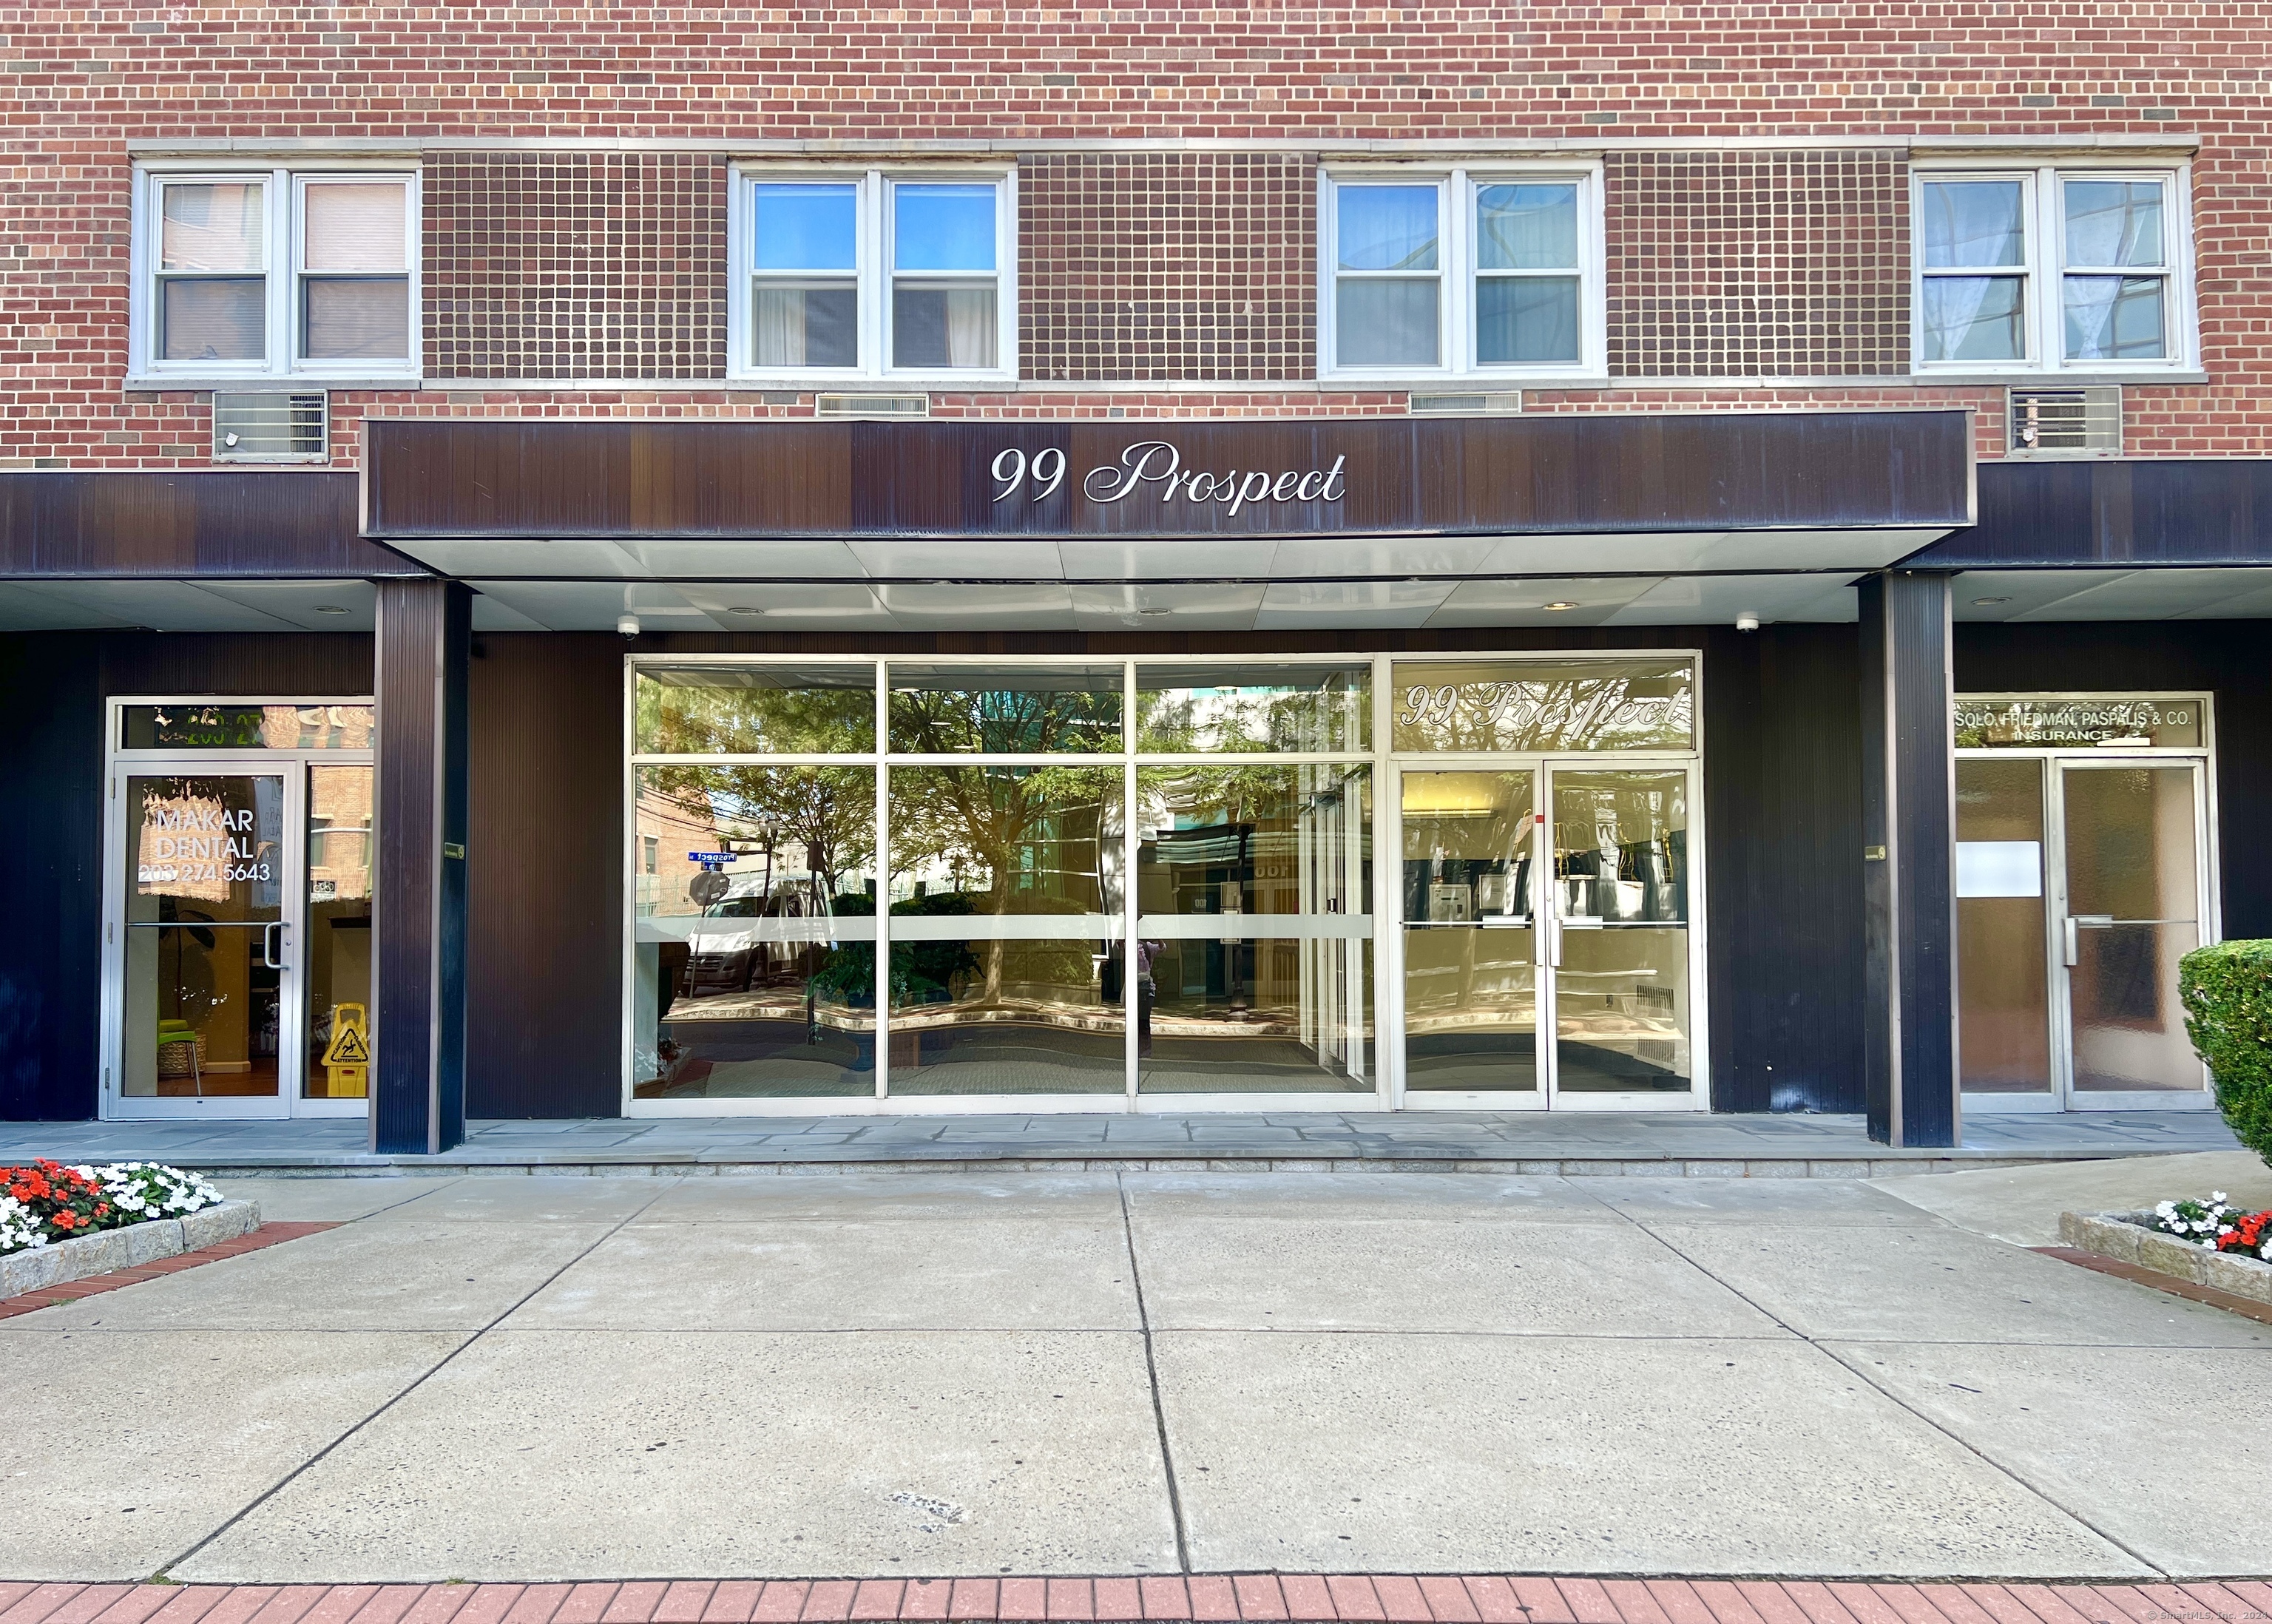
[(1125, 665), (891, 663), (891, 747), (907, 756), (1120, 750)]

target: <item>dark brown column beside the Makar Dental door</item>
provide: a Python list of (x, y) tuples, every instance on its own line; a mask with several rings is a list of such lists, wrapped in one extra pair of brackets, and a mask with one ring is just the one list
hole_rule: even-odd
[(466, 654), (473, 593), (379, 581), (370, 1149), (466, 1138)]

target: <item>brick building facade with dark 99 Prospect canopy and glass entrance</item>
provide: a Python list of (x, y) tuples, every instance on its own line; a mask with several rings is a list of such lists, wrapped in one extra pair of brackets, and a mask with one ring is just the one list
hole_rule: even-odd
[(2206, 1104), (2256, 23), (30, 16), (0, 1115)]

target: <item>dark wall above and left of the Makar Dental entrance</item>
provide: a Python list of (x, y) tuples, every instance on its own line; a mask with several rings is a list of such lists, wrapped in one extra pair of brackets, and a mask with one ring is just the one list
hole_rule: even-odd
[(116, 693), (361, 695), (370, 638), (27, 631), (0, 638), (0, 1117), (95, 1113), (102, 1018), (102, 702)]

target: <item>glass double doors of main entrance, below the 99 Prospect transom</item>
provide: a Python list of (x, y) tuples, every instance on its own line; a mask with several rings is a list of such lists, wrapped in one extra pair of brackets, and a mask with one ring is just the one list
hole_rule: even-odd
[(1695, 1104), (1688, 804), (1686, 765), (1400, 775), (1409, 1099)]

